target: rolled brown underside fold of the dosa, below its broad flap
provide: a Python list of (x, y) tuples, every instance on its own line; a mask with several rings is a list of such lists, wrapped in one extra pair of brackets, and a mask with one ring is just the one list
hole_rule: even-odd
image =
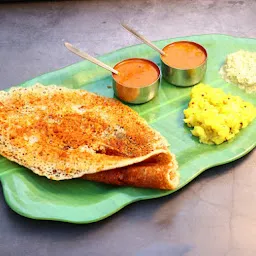
[(176, 189), (179, 183), (177, 162), (172, 154), (159, 154), (131, 166), (84, 175), (85, 180), (118, 186)]

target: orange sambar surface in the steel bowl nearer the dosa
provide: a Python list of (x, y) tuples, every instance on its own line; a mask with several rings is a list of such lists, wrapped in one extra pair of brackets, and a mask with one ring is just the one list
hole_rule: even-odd
[(123, 86), (140, 88), (153, 84), (159, 78), (158, 67), (146, 59), (127, 59), (114, 67), (118, 75), (113, 74), (114, 80)]

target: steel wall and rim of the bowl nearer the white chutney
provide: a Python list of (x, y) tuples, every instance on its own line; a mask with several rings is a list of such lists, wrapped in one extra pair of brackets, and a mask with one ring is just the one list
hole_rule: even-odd
[[(186, 43), (195, 44), (205, 53), (205, 61), (199, 66), (196, 66), (192, 69), (180, 69), (180, 68), (169, 66), (162, 60), (162, 56), (160, 56), (162, 76), (168, 83), (176, 86), (188, 87), (188, 86), (195, 85), (204, 78), (206, 68), (207, 68), (207, 51), (202, 45), (195, 42), (190, 42), (190, 41), (177, 41), (177, 42), (186, 42)], [(171, 44), (175, 44), (177, 42), (173, 42)], [(171, 44), (168, 44), (165, 47)], [(163, 48), (163, 51), (165, 47)]]

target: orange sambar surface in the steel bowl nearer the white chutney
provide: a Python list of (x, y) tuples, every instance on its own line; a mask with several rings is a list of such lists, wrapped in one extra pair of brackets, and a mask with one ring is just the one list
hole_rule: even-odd
[(196, 43), (180, 41), (166, 45), (163, 48), (166, 55), (162, 61), (170, 67), (178, 69), (192, 69), (204, 63), (207, 53)]

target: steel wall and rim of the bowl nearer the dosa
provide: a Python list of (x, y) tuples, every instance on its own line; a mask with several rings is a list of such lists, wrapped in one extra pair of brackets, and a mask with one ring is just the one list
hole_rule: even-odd
[(124, 62), (132, 61), (132, 60), (143, 60), (150, 63), (158, 71), (158, 78), (153, 83), (143, 87), (129, 87), (129, 86), (118, 83), (113, 76), (114, 74), (112, 74), (112, 84), (113, 84), (114, 93), (117, 98), (127, 103), (132, 103), (132, 104), (146, 103), (152, 100), (158, 92), (159, 85), (160, 85), (161, 72), (159, 67), (154, 62), (147, 59), (143, 59), (143, 58), (125, 59), (121, 62), (118, 62), (114, 66), (114, 69), (117, 69), (117, 67), (123, 64)]

